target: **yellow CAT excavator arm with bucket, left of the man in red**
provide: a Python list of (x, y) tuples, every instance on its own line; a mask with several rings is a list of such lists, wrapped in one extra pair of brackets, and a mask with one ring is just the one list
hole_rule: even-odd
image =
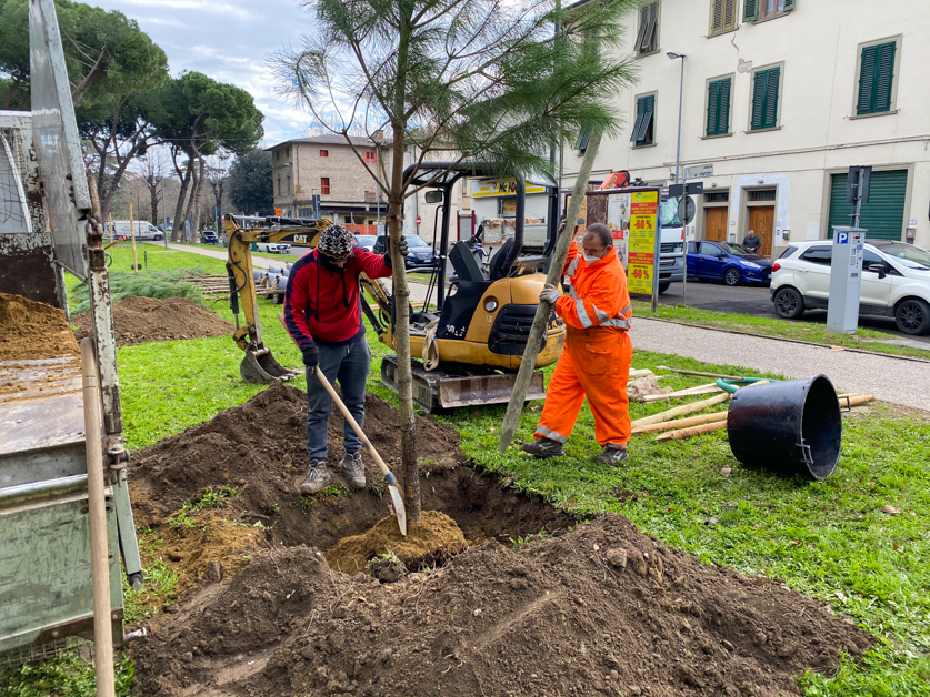
[[(296, 242), (317, 245), (319, 234), (331, 225), (331, 221), (291, 218), (234, 218), (227, 215), (223, 231), (229, 240), (229, 259), (226, 263), (229, 276), (229, 305), (236, 320), (232, 337), (246, 352), (239, 365), (239, 375), (247, 383), (270, 383), (290, 380), (294, 373), (287, 370), (271, 354), (261, 336), (261, 321), (256, 296), (254, 269), (252, 266), (253, 242), (280, 242), (293, 238)], [(244, 322), (240, 323), (241, 311)]]

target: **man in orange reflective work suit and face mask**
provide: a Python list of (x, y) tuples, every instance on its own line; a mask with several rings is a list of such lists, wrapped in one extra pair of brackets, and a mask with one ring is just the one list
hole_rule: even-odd
[(539, 299), (550, 302), (564, 321), (566, 345), (549, 381), (536, 440), (523, 451), (537, 457), (564, 455), (562, 446), (588, 397), (603, 447), (596, 462), (616, 465), (627, 459), (630, 438), (627, 381), (633, 346), (627, 332), (633, 310), (610, 229), (589, 226), (581, 254), (571, 243), (562, 273), (569, 276), (570, 296), (547, 283)]

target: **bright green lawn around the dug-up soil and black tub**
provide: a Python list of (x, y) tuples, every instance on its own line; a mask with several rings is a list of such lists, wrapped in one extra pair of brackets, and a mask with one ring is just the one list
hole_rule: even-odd
[[(117, 250), (114, 264), (128, 266), (123, 254)], [(172, 267), (211, 262), (183, 252), (150, 254), (149, 261)], [(213, 309), (229, 317), (224, 305)], [(266, 344), (282, 364), (299, 366), (299, 353), (274, 319), (277, 310), (260, 302)], [(380, 358), (389, 351), (370, 330), (368, 340), (374, 356), (369, 388), (396, 404), (379, 380)], [(118, 360), (126, 436), (132, 449), (209, 420), (261, 390), (239, 381), (240, 353), (226, 337), (129, 346), (119, 350)], [(634, 367), (663, 372), (658, 365), (762, 374), (670, 354), (634, 354)], [(702, 382), (706, 378), (680, 375), (662, 380), (676, 388)], [(303, 387), (301, 380), (294, 385)], [(541, 402), (527, 406), (519, 440), (532, 437), (540, 408)], [(633, 404), (631, 416), (662, 408), (667, 405)], [(637, 435), (624, 466), (596, 466), (592, 459), (599, 448), (587, 406), (566, 457), (536, 461), (518, 445), (500, 456), (497, 440), (503, 412), (503, 406), (467, 408), (438, 418), (459, 431), (462, 449), (478, 466), (500, 473), (519, 491), (540, 494), (580, 517), (622, 513), (643, 532), (706, 564), (764, 574), (820, 598), (878, 637), (876, 648), (861, 661), (843, 659), (837, 675), (802, 676), (807, 695), (930, 695), (930, 422), (924, 415), (881, 404), (846, 415), (837, 472), (823, 483), (811, 483), (740, 466), (724, 432), (670, 443)], [(724, 476), (723, 468), (732, 473)], [(883, 513), (887, 505), (900, 508), (900, 514)], [(708, 523), (711, 517), (716, 524)], [(153, 544), (149, 537), (146, 543)], [(159, 569), (152, 572), (159, 575)], [(7, 679), (10, 695), (40, 694), (16, 688), (22, 671), (9, 675), (0, 676), (0, 687)]]

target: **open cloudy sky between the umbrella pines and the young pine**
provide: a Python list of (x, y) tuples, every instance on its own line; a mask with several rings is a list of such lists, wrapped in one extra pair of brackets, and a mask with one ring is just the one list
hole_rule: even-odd
[(168, 55), (172, 77), (184, 70), (240, 87), (264, 114), (263, 147), (300, 138), (302, 110), (274, 95), (268, 57), (312, 32), (312, 19), (294, 0), (83, 0), (119, 10)]

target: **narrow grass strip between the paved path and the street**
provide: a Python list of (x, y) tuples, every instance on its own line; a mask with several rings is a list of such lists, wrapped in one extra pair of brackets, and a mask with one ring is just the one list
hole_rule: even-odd
[[(650, 312), (650, 303), (647, 301), (633, 301), (633, 314), (644, 317), (653, 316)], [(777, 317), (757, 317), (736, 312), (716, 312), (713, 310), (697, 310), (686, 305), (659, 305), (657, 316), (662, 320), (672, 320), (683, 324), (697, 326), (709, 326), (737, 332), (748, 332), (763, 336), (780, 336), (796, 341), (807, 341), (827, 346), (844, 346), (847, 348), (861, 348), (891, 355), (913, 356), (917, 358), (930, 360), (930, 350), (914, 348), (912, 346), (900, 346), (897, 344), (883, 344), (881, 341), (900, 339), (893, 334), (878, 332), (860, 327), (854, 335), (832, 334), (827, 331), (822, 323), (780, 320)], [(872, 340), (872, 341), (867, 341)]]

